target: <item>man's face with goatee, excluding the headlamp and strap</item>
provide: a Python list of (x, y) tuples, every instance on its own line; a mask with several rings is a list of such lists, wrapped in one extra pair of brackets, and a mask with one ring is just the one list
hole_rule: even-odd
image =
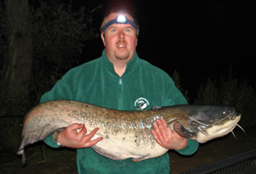
[[(125, 15), (128, 20), (133, 20), (130, 14), (112, 13), (108, 15), (108, 21), (115, 19), (118, 15)], [(102, 33), (102, 41), (106, 47), (108, 59), (112, 63), (118, 60), (127, 63), (136, 51), (137, 31), (130, 24), (113, 24)]]

